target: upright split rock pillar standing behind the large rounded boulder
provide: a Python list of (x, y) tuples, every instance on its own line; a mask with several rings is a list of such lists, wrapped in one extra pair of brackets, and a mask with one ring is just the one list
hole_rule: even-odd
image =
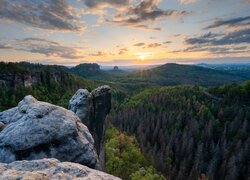
[(69, 109), (88, 126), (99, 155), (104, 136), (104, 121), (111, 109), (110, 87), (100, 86), (91, 93), (86, 89), (79, 89), (69, 101)]

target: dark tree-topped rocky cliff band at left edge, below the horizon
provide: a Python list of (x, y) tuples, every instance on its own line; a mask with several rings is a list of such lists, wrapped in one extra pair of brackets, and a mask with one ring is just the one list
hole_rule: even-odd
[(68, 69), (62, 66), (0, 62), (0, 89), (48, 85), (52, 81), (65, 84), (69, 79)]

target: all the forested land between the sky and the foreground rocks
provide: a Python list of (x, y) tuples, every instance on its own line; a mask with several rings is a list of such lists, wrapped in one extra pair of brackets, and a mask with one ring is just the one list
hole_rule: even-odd
[(232, 82), (244, 78), (176, 64), (130, 73), (94, 66), (89, 80), (82, 68), (89, 72), (91, 65), (76, 73), (63, 66), (0, 63), (0, 111), (28, 94), (68, 107), (78, 88), (108, 84), (107, 172), (133, 180), (250, 177), (250, 81), (239, 85)]

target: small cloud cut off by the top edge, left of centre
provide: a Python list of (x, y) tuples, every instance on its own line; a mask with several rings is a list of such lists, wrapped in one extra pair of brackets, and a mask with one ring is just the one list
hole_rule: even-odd
[(82, 0), (88, 8), (123, 7), (129, 0)]

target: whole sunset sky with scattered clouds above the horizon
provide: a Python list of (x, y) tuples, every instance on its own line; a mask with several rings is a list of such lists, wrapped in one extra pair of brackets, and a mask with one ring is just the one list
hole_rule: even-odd
[(0, 0), (0, 61), (250, 63), (250, 0)]

